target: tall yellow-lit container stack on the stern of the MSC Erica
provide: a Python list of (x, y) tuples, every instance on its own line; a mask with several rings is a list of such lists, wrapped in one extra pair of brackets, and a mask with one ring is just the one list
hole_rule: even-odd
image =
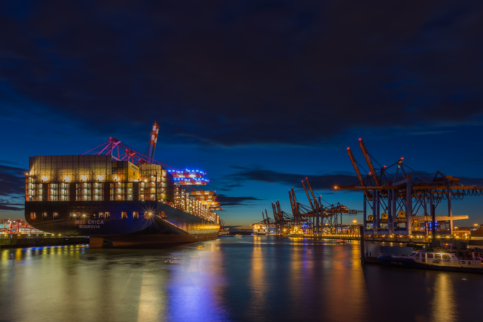
[(172, 175), (160, 165), (111, 155), (39, 155), (29, 158), (29, 169), (26, 201), (174, 201)]

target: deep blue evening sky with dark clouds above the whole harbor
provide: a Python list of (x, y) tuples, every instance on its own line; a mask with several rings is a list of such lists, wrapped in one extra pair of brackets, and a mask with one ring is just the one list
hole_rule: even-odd
[[(384, 165), (483, 185), (481, 3), (210, 3), (0, 4), (1, 218), (23, 218), (28, 156), (111, 136), (143, 151), (155, 120), (156, 159), (206, 171), (230, 226), (288, 211), (292, 186), (307, 203), (305, 177), (362, 209), (330, 189), (356, 182), (358, 138)], [(482, 201), (454, 213), (483, 221)]]

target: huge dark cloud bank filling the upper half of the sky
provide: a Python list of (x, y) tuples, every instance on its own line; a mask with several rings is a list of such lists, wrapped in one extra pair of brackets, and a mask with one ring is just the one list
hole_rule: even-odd
[(0, 98), (95, 131), (306, 144), (481, 124), (481, 1), (2, 1), (0, 28)]

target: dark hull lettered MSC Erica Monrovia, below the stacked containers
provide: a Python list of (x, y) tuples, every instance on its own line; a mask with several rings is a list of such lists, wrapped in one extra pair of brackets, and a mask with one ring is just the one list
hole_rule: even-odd
[(207, 240), (219, 231), (218, 224), (157, 201), (29, 201), (25, 219), (47, 233), (103, 238), (114, 246)]

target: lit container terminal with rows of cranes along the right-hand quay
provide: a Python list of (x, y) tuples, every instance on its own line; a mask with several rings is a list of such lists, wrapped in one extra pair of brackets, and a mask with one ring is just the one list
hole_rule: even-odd
[[(267, 210), (262, 211), (262, 220), (252, 224), (255, 235), (337, 238), (343, 235), (363, 235), (370, 240), (391, 240), (399, 238), (460, 238), (483, 242), (481, 227), (469, 230), (454, 227), (455, 220), (468, 219), (467, 215), (455, 215), (452, 202), (464, 196), (481, 196), (483, 187), (463, 185), (458, 178), (447, 176), (441, 171), (419, 173), (398, 159), (389, 167), (382, 166), (369, 154), (362, 139), (358, 141), (369, 170), (355, 160), (350, 148), (347, 153), (355, 170), (358, 182), (350, 186), (334, 186), (335, 190), (355, 189), (363, 192), (362, 210), (351, 210), (341, 203), (332, 204), (314, 193), (309, 180), (302, 181), (302, 187), (309, 205), (298, 200), (294, 189), (288, 191), (291, 211), (282, 210), (280, 202), (272, 203), (273, 219)], [(375, 161), (380, 168), (373, 166)], [(367, 175), (363, 176), (362, 171)], [(438, 206), (445, 203), (447, 210), (437, 213)], [(357, 224), (354, 218), (363, 216)], [(470, 231), (472, 234), (470, 234)], [(377, 239), (376, 239), (377, 238)], [(480, 244), (480, 243), (476, 243)]]

